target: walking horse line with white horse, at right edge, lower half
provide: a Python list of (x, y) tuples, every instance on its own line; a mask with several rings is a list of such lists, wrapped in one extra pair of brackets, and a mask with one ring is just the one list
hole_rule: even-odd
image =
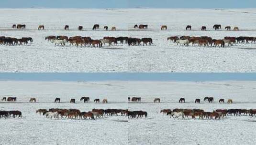
[[(196, 119), (221, 119), (227, 116), (249, 115), (253, 117), (256, 114), (256, 109), (217, 109), (212, 112), (206, 112), (202, 109), (163, 109), (160, 111), (164, 115), (170, 115), (170, 118), (189, 118)], [(255, 115), (256, 116), (256, 115)]]

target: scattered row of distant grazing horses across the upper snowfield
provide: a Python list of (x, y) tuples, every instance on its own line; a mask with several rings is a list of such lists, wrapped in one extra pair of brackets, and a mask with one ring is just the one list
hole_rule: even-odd
[[(12, 25), (12, 29), (25, 29), (26, 25), (25, 24), (13, 24)], [(83, 26), (78, 26), (78, 30), (82, 31), (83, 30)], [(108, 31), (108, 26), (103, 26), (103, 29), (105, 31)], [(134, 29), (147, 29), (148, 28), (148, 24), (135, 24), (134, 25)], [(167, 30), (167, 25), (161, 25), (161, 30)], [(191, 30), (192, 26), (191, 25), (187, 25), (186, 30)], [(219, 30), (222, 28), (222, 26), (220, 24), (215, 24), (212, 27), (214, 30)], [(94, 24), (92, 27), (92, 30), (97, 30), (100, 29), (100, 25), (99, 24)], [(45, 26), (44, 25), (39, 25), (38, 26), (38, 30), (45, 30)], [(69, 25), (65, 25), (64, 30), (69, 30)], [(231, 31), (231, 26), (226, 26), (225, 30), (227, 31)], [(234, 27), (233, 29), (234, 31), (239, 31), (239, 28), (237, 26)], [(116, 27), (111, 27), (111, 31), (116, 31)], [(201, 31), (206, 31), (206, 26), (202, 26), (201, 27)]]

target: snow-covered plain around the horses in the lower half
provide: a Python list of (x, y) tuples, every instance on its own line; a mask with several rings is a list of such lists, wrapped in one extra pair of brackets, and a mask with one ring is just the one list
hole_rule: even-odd
[[(256, 118), (228, 116), (223, 120), (172, 119), (161, 109), (253, 109), (256, 108), (256, 82), (0, 82), (0, 96), (17, 96), (17, 103), (0, 101), (0, 110), (21, 110), (22, 119), (0, 119), (1, 145), (254, 145)], [(53, 103), (55, 97), (62, 103)], [(81, 96), (107, 98), (109, 104), (83, 104)], [(127, 103), (127, 96), (142, 97), (141, 103)], [(185, 104), (179, 104), (179, 97)], [(195, 98), (213, 96), (212, 104), (194, 104)], [(28, 103), (35, 97), (38, 103)], [(154, 98), (160, 104), (153, 104)], [(68, 103), (76, 98), (76, 104)], [(234, 104), (219, 104), (219, 98), (233, 99)], [(37, 109), (118, 108), (143, 110), (148, 118), (103, 117), (96, 121), (46, 119)], [(4, 124), (4, 125), (3, 125)], [(15, 137), (14, 137), (15, 136)]]

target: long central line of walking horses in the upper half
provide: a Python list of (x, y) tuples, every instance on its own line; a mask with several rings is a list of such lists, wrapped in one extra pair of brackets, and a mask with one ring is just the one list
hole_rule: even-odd
[(82, 37), (82, 36), (74, 36), (74, 37), (67, 37), (67, 36), (47, 36), (45, 40), (50, 41), (51, 43), (55, 43), (58, 46), (65, 46), (66, 43), (69, 43), (72, 46), (80, 46), (80, 47), (102, 47), (103, 44), (109, 44), (109, 46), (117, 45), (118, 42), (120, 44), (127, 43), (128, 46), (130, 45), (151, 45), (153, 44), (152, 38), (130, 38), (130, 37), (103, 37), (100, 40), (92, 40), (90, 37)]

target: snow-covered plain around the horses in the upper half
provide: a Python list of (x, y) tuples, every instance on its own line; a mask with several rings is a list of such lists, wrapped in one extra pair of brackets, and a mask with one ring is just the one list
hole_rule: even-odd
[[(256, 37), (256, 9), (0, 9), (0, 36), (32, 37), (31, 46), (0, 45), (0, 72), (255, 72), (256, 44), (225, 48), (179, 47), (169, 36)], [(25, 31), (12, 24), (24, 23)], [(91, 31), (93, 24), (99, 31)], [(38, 25), (45, 31), (37, 31)], [(65, 25), (70, 31), (63, 31)], [(133, 31), (148, 24), (147, 31)], [(213, 31), (214, 24), (238, 26), (241, 31)], [(78, 26), (85, 31), (77, 31)], [(103, 26), (117, 31), (103, 31)], [(160, 31), (167, 25), (167, 31)], [(192, 31), (185, 31), (187, 25)], [(207, 31), (200, 31), (201, 26)], [(103, 48), (55, 47), (45, 36), (67, 35), (151, 37), (152, 46)]]

